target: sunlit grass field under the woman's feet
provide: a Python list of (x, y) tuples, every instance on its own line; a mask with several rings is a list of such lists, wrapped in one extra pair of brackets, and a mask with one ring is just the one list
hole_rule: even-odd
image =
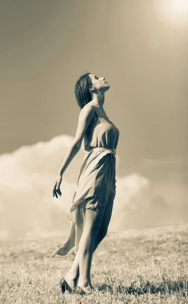
[(108, 233), (93, 254), (91, 295), (62, 294), (64, 236), (1, 240), (0, 303), (188, 303), (188, 224)]

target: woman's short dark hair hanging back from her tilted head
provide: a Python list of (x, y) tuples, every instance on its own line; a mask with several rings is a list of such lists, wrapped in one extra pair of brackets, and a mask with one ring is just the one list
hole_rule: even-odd
[(74, 89), (78, 105), (81, 109), (92, 99), (92, 94), (89, 90), (89, 88), (92, 87), (92, 81), (89, 74), (91, 73), (86, 72), (82, 75), (77, 81)]

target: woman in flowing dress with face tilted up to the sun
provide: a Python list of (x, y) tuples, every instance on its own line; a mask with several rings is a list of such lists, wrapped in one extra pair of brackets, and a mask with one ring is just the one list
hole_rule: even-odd
[(74, 255), (71, 269), (60, 281), (62, 292), (67, 289), (70, 293), (92, 293), (92, 255), (105, 237), (111, 218), (116, 195), (116, 148), (119, 130), (103, 109), (104, 93), (109, 87), (104, 78), (98, 78), (92, 73), (82, 75), (75, 86), (77, 102), (81, 108), (78, 128), (58, 172), (53, 196), (61, 196), (62, 175), (80, 150), (83, 139), (87, 153), (68, 213), (71, 220), (68, 239), (60, 243), (58, 249), (51, 254), (52, 257)]

